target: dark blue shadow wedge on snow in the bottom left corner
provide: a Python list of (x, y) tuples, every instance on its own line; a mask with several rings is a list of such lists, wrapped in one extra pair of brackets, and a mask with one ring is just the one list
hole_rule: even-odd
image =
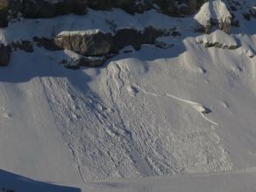
[(0, 191), (2, 189), (10, 189), (15, 192), (81, 192), (80, 188), (33, 181), (24, 176), (12, 174), (0, 169)]

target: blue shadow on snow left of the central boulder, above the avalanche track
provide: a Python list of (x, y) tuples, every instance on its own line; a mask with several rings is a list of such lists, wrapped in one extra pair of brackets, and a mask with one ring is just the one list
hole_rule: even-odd
[(37, 48), (33, 53), (18, 51), (12, 53), (9, 66), (0, 68), (0, 82), (29, 82), (37, 77), (67, 77), (81, 89), (88, 89), (89, 75), (82, 70), (70, 70), (60, 64), (67, 57), (62, 51), (50, 52)]

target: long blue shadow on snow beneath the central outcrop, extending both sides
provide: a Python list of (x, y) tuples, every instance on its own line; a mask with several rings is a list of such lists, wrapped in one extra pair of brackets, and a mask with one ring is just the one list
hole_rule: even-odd
[[(161, 49), (154, 45), (143, 45), (140, 50), (133, 50), (131, 53), (120, 51), (116, 56), (107, 60), (102, 67), (94, 68), (94, 73), (95, 75), (99, 74), (102, 68), (106, 68), (114, 60), (134, 58), (146, 62), (177, 57), (187, 50), (182, 43), (184, 38), (179, 37), (176, 39), (176, 44), (167, 49)], [(29, 82), (37, 77), (66, 77), (69, 82), (81, 89), (89, 89), (87, 83), (91, 81), (91, 77), (82, 70), (86, 68), (76, 70), (65, 68), (63, 64), (60, 64), (65, 57), (67, 55), (63, 51), (51, 52), (44, 48), (36, 48), (33, 53), (14, 52), (11, 54), (9, 66), (0, 68), (0, 82), (19, 83)]]

